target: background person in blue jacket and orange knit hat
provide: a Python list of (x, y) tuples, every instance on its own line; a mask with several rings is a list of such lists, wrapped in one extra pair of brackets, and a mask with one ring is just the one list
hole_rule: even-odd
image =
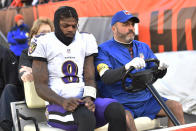
[(28, 47), (29, 27), (24, 24), (24, 17), (21, 14), (17, 14), (14, 20), (16, 25), (8, 32), (7, 39), (10, 50), (19, 60), (22, 50)]

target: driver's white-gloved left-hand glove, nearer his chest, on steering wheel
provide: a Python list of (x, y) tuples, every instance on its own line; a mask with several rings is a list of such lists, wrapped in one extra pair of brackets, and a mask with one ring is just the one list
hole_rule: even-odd
[(128, 70), (131, 66), (133, 66), (136, 70), (142, 69), (146, 66), (143, 58), (135, 57), (129, 63), (125, 65), (125, 69)]

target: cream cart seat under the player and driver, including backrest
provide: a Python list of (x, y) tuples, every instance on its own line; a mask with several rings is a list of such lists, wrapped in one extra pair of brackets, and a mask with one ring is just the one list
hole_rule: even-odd
[[(47, 102), (45, 102), (37, 95), (34, 82), (24, 82), (24, 91), (25, 91), (26, 104), (28, 108), (45, 107)], [(151, 120), (149, 117), (139, 117), (136, 118), (134, 121), (138, 131), (149, 130), (149, 129), (160, 127), (159, 119)], [(40, 131), (63, 131), (61, 129), (54, 128), (47, 125), (46, 121), (38, 123), (38, 126)], [(95, 129), (95, 131), (107, 131), (107, 130), (108, 130), (108, 124), (106, 124), (103, 127)], [(24, 126), (24, 131), (36, 131), (35, 125), (33, 123), (26, 124)]]

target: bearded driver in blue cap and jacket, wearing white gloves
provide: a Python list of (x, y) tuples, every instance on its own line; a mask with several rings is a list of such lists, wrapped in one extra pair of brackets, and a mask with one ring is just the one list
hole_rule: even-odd
[[(131, 66), (135, 68), (135, 72), (145, 70), (152, 65), (146, 65), (144, 60), (156, 58), (147, 44), (134, 40), (135, 23), (139, 23), (139, 19), (128, 11), (117, 12), (111, 21), (114, 37), (99, 45), (95, 60), (101, 96), (114, 98), (123, 104), (130, 116), (129, 128), (132, 130), (136, 130), (133, 118), (148, 116), (154, 119), (156, 116), (166, 116), (148, 89), (128, 93), (121, 86), (123, 75)], [(158, 77), (164, 76), (167, 67), (167, 64), (160, 61)], [(181, 124), (184, 124), (182, 106), (176, 101), (163, 99)], [(172, 125), (169, 120), (168, 126)]]

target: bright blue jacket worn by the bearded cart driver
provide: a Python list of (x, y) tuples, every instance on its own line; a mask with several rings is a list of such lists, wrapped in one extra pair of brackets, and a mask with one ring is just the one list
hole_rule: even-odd
[[(114, 39), (100, 44), (98, 56), (95, 59), (96, 69), (99, 64), (106, 64), (110, 69), (117, 69), (135, 57), (140, 57), (141, 54), (144, 56), (144, 59), (156, 58), (149, 46), (143, 42), (133, 40), (132, 49), (133, 58), (130, 55), (129, 49)], [(131, 80), (126, 80), (126, 82), (130, 83)], [(133, 107), (139, 107), (141, 102), (145, 102), (152, 97), (147, 89), (136, 93), (126, 92), (121, 86), (121, 81), (106, 85), (98, 79), (97, 84), (101, 96), (114, 98), (122, 104), (131, 104)]]

